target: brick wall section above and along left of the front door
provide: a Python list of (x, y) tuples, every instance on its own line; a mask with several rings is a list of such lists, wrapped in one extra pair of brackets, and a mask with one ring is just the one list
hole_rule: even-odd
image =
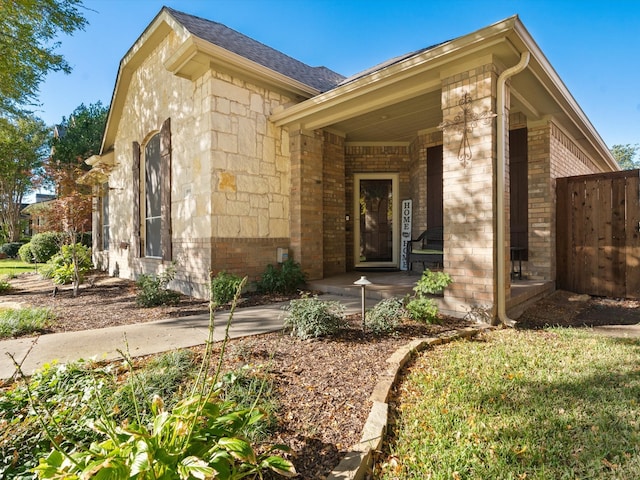
[[(344, 202), (349, 221), (346, 225), (347, 270), (355, 266), (354, 258), (354, 175), (357, 173), (398, 173), (400, 192), (397, 200), (411, 195), (411, 158), (404, 146), (354, 146), (345, 148), (345, 196)], [(399, 232), (399, 230), (398, 230)]]

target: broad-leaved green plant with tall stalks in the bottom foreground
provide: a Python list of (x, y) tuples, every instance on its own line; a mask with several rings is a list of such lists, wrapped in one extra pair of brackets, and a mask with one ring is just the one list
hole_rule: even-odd
[[(243, 279), (235, 300), (244, 286)], [(219, 374), (229, 327), (235, 310), (234, 300), (225, 331), (220, 358), (213, 378), (207, 375), (212, 356), (213, 311), (209, 318), (209, 337), (205, 354), (191, 393), (172, 409), (165, 409), (164, 402), (155, 396), (151, 405), (151, 422), (145, 421), (136, 409), (129, 422), (117, 424), (98, 398), (99, 413), (93, 428), (103, 440), (93, 442), (89, 448), (65, 448), (49, 431), (53, 450), (35, 468), (39, 478), (79, 479), (130, 478), (188, 479), (218, 478), (240, 479), (262, 477), (262, 471), (273, 470), (286, 476), (294, 476), (291, 462), (272, 455), (275, 445), (257, 454), (242, 432), (258, 422), (263, 414), (255, 408), (238, 408), (233, 402), (220, 398)], [(213, 306), (212, 306), (213, 307)], [(123, 354), (124, 355), (124, 354)], [(124, 355), (131, 365), (131, 359)], [(132, 375), (135, 375), (133, 371)], [(135, 405), (135, 400), (134, 400)]]

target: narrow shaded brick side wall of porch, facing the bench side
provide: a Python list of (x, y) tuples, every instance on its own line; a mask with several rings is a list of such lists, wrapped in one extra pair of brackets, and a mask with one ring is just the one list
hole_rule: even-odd
[(324, 276), (346, 272), (344, 138), (324, 132), (323, 270)]

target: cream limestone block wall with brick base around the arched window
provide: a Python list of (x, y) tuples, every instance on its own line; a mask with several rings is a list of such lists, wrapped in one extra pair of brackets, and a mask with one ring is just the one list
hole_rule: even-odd
[(111, 187), (110, 273), (136, 278), (166, 268), (134, 258), (132, 142), (144, 142), (171, 118), (172, 288), (208, 295), (209, 273), (257, 278), (289, 246), (289, 138), (268, 116), (290, 98), (210, 70), (195, 81), (163, 66), (178, 46), (174, 32), (133, 72), (115, 141)]

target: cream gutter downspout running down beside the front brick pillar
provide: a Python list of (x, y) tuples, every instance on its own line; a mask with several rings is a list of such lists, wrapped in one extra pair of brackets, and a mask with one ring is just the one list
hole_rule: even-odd
[(498, 319), (506, 326), (513, 327), (515, 320), (507, 317), (506, 311), (506, 293), (505, 293), (505, 271), (506, 271), (506, 254), (504, 252), (505, 245), (505, 225), (506, 225), (506, 212), (504, 209), (504, 195), (505, 195), (505, 171), (506, 171), (506, 149), (507, 149), (507, 129), (504, 119), (504, 109), (506, 101), (506, 84), (507, 80), (512, 76), (520, 73), (529, 64), (529, 58), (531, 54), (529, 52), (523, 52), (520, 56), (520, 61), (517, 65), (507, 68), (498, 77), (498, 98), (497, 98), (497, 140), (498, 140), (498, 159), (497, 159), (497, 244), (498, 250), (497, 258), (497, 283), (498, 283)]

